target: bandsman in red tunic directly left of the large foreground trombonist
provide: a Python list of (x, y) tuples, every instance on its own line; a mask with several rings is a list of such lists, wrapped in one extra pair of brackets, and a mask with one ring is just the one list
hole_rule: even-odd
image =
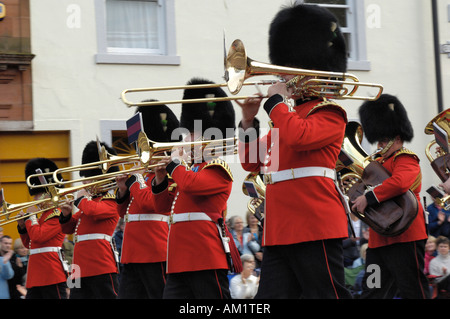
[[(197, 83), (211, 82), (193, 79), (188, 84)], [(220, 88), (186, 89), (183, 99), (209, 94), (226, 96)], [(189, 130), (191, 141), (205, 137), (206, 130), (214, 131), (216, 138), (219, 135), (223, 138), (226, 129), (231, 128), (234, 136), (233, 106), (228, 101), (183, 104), (180, 126)], [(225, 161), (208, 160), (203, 155), (194, 156), (190, 167), (175, 157), (166, 161), (177, 193), (171, 209), (165, 299), (229, 299), (230, 254), (234, 266), (240, 270), (239, 253), (225, 225), (233, 177)]]

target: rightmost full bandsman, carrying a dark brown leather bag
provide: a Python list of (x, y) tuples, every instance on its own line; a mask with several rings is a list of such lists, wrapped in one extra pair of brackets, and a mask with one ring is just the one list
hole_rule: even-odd
[[(392, 175), (372, 191), (356, 198), (352, 210), (364, 212), (374, 205), (399, 196), (411, 189), (417, 197), (418, 213), (411, 226), (400, 235), (382, 236), (369, 229), (369, 248), (366, 253), (366, 274), (361, 298), (393, 298), (400, 293), (404, 299), (429, 298), (428, 281), (424, 275), (424, 256), (427, 231), (420, 201), (422, 173), (419, 158), (403, 147), (410, 142), (414, 131), (402, 103), (389, 94), (377, 101), (368, 101), (359, 109), (364, 134), (370, 143), (383, 148), (377, 160)], [(378, 265), (379, 286), (368, 285), (369, 265)], [(370, 287), (369, 287), (370, 286)]]

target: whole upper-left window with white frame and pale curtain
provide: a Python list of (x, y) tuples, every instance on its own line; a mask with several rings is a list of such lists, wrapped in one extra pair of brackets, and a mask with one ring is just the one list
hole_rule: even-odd
[(180, 64), (174, 0), (95, 0), (97, 63)]

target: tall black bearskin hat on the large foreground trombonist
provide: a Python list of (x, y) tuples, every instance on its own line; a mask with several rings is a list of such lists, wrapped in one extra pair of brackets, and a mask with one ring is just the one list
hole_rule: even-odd
[(317, 5), (282, 8), (269, 29), (269, 58), (275, 65), (347, 71), (347, 47), (337, 18)]

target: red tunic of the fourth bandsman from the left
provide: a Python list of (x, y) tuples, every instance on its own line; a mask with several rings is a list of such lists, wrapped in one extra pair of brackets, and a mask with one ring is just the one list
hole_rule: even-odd
[[(178, 191), (173, 214), (203, 212), (223, 216), (233, 181), (224, 167), (202, 163), (195, 164), (189, 170), (179, 165), (171, 175)], [(216, 224), (210, 221), (172, 224), (168, 239), (167, 273), (206, 269), (228, 269)]]

